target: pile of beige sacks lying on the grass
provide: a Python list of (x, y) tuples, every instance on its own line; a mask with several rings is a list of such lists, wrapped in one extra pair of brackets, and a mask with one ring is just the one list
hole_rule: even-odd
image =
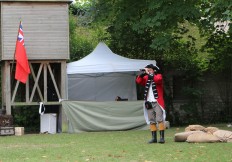
[(201, 125), (189, 125), (184, 132), (176, 133), (175, 142), (232, 142), (232, 131), (220, 130), (217, 127), (203, 127)]

